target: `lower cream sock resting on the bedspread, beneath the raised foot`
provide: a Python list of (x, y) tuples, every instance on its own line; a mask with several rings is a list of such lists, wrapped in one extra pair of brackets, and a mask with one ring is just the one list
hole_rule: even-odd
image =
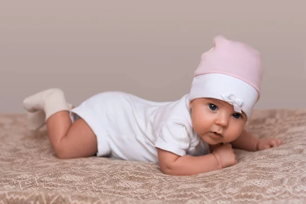
[[(72, 109), (72, 105), (67, 103), (69, 110)], [(27, 123), (29, 130), (38, 130), (46, 123), (46, 114), (43, 110), (36, 112), (28, 112)]]

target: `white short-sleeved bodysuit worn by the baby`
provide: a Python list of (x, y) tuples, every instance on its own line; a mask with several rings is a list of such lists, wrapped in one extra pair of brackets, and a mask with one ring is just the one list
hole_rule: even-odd
[(188, 94), (154, 102), (123, 92), (103, 92), (71, 110), (97, 137), (98, 157), (158, 162), (157, 147), (176, 155), (209, 154), (193, 130)]

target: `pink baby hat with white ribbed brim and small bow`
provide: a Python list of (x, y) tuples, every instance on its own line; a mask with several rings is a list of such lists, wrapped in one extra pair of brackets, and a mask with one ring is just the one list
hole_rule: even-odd
[(216, 36), (214, 47), (202, 54), (194, 72), (189, 99), (224, 100), (249, 118), (260, 98), (262, 76), (261, 57), (256, 49)]

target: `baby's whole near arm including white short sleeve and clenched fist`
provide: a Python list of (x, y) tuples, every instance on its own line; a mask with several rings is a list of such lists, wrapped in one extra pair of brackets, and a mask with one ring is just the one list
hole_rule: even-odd
[(189, 156), (186, 154), (191, 139), (186, 126), (167, 121), (156, 131), (157, 148), (161, 171), (170, 175), (194, 175), (205, 173), (237, 163), (237, 157), (230, 143), (214, 148), (211, 154)]

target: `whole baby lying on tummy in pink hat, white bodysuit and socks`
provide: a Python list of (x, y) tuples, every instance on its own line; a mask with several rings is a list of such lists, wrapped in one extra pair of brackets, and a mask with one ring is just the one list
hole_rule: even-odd
[(155, 102), (103, 92), (72, 107), (60, 89), (23, 100), (29, 129), (46, 123), (58, 158), (111, 157), (157, 162), (170, 175), (193, 175), (237, 164), (233, 148), (258, 151), (283, 142), (244, 130), (260, 98), (260, 54), (223, 36), (201, 56), (190, 93)]

